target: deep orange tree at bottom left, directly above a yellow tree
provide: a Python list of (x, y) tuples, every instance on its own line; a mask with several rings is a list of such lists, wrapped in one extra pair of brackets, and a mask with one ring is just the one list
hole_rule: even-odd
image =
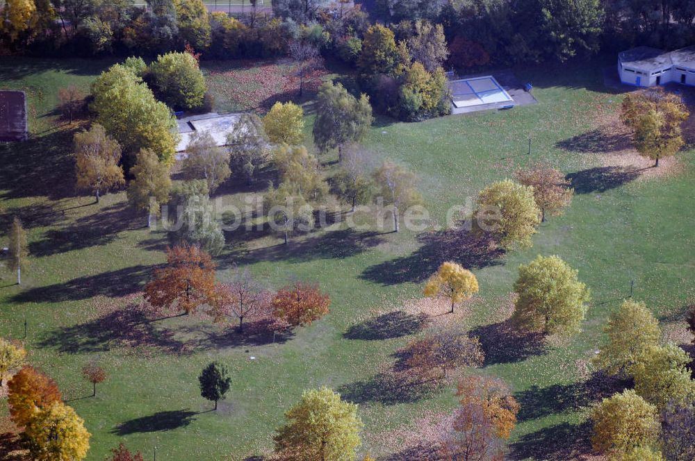
[(56, 382), (34, 367), (22, 368), (8, 383), (7, 403), (17, 426), (26, 426), (38, 412), (61, 401)]

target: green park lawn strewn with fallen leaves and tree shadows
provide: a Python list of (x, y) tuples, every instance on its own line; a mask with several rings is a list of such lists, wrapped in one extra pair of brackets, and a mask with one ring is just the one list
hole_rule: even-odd
[[(150, 459), (154, 447), (158, 459), (172, 461), (263, 454), (272, 448), (283, 412), (303, 389), (321, 385), (360, 404), (361, 454), (398, 452), (412, 442), (411, 432), (432, 430), (423, 418), (455, 408), (455, 385), (389, 387), (379, 373), (393, 365), (393, 353), (412, 332), (384, 334), (378, 321), (376, 328), (368, 321), (412, 305), (443, 258), (471, 267), (479, 280), (480, 295), (457, 321), (481, 337), (487, 360), (480, 372), (507, 380), (522, 405), (512, 458), (569, 460), (586, 450), (585, 405), (596, 394), (584, 383), (583, 364), (600, 345), (607, 315), (629, 295), (630, 280), (635, 299), (647, 303), (667, 332), (682, 329), (695, 294), (694, 157), (682, 153), (678, 168), (660, 177), (605, 169), (610, 153), (603, 151), (614, 140), (596, 132), (596, 119), (616, 110), (621, 96), (603, 87), (600, 62), (516, 69), (534, 84), (538, 104), (417, 124), (377, 119), (364, 142), (377, 160), (391, 158), (418, 174), (432, 228), (444, 223), (450, 207), (465, 205), (484, 185), (511, 177), (528, 162), (545, 160), (573, 175), (578, 194), (571, 207), (541, 225), (532, 249), (488, 258), (444, 243), (430, 229), (369, 233), (337, 224), (293, 237), (287, 247), (272, 235), (238, 231), (227, 235), (216, 258), (220, 280), (236, 263), (272, 288), (293, 280), (317, 283), (332, 298), (330, 314), (276, 342), (240, 337), (200, 315), (144, 316), (133, 305), (152, 269), (165, 260), (166, 235), (143, 228), (145, 217), (127, 208), (124, 192), (105, 196), (98, 206), (75, 195), (73, 128), (54, 112), (58, 88), (86, 89), (110, 64), (0, 61), (0, 87), (28, 92), (33, 134), (25, 144), (0, 145), (0, 243), (17, 214), (28, 228), (32, 254), (22, 287), (12, 274), (0, 279), (0, 335), (21, 339), (26, 319), (31, 363), (56, 378), (92, 433), (89, 460), (104, 459), (121, 441)], [(229, 94), (218, 95), (229, 101), (224, 98)], [(307, 112), (311, 144), (313, 116)], [(321, 160), (329, 174), (334, 154)], [(243, 203), (263, 187), (232, 180), (218, 195)], [(583, 332), (545, 348), (499, 333), (516, 269), (538, 254), (560, 255), (593, 294)], [(109, 378), (92, 398), (81, 367), (95, 358)], [(218, 412), (208, 411), (211, 403), (199, 396), (197, 383), (211, 360), (226, 364), (232, 376)], [(4, 406), (0, 412), (6, 417)]]

